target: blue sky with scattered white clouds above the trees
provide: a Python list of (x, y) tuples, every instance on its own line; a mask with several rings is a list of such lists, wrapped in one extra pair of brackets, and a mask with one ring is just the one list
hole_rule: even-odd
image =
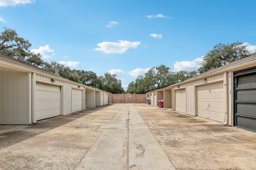
[(256, 50), (256, 0), (0, 0), (4, 27), (32, 43), (44, 61), (116, 74), (126, 90), (164, 64), (197, 70), (217, 43)]

